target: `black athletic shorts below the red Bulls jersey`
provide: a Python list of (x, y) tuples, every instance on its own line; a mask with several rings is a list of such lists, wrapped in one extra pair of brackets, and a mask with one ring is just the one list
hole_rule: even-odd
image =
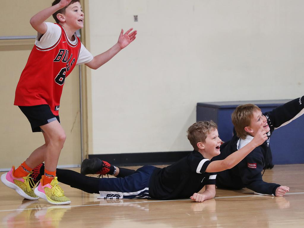
[(59, 116), (55, 116), (49, 105), (35, 105), (35, 106), (18, 106), (31, 124), (33, 132), (43, 132), (40, 126), (58, 120)]

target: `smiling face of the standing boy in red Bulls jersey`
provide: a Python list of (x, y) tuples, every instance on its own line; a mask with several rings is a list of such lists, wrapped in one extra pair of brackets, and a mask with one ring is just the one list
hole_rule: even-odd
[(64, 22), (75, 31), (83, 28), (84, 13), (79, 2), (74, 2), (65, 9)]

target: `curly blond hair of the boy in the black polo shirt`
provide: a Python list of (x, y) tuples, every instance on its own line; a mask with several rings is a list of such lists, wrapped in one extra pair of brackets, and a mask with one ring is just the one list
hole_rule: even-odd
[(192, 147), (194, 150), (198, 150), (197, 147), (198, 142), (205, 142), (208, 134), (212, 131), (217, 129), (216, 123), (214, 123), (212, 120), (210, 121), (199, 121), (194, 124), (192, 124), (188, 128), (188, 140), (190, 141)]

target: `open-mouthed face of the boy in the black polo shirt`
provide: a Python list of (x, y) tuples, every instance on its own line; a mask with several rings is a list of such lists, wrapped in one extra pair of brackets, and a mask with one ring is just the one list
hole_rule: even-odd
[[(205, 158), (209, 160), (220, 154), (219, 147), (222, 140), (219, 138), (217, 129), (211, 130), (206, 137), (205, 142), (200, 142), (201, 152)], [(198, 143), (199, 144), (199, 143)], [(199, 145), (198, 145), (199, 147)]]

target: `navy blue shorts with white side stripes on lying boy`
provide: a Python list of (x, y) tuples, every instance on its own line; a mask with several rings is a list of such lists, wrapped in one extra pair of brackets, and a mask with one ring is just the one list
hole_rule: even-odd
[(99, 182), (99, 199), (150, 198), (149, 181), (156, 167), (145, 165), (124, 178), (102, 178)]

